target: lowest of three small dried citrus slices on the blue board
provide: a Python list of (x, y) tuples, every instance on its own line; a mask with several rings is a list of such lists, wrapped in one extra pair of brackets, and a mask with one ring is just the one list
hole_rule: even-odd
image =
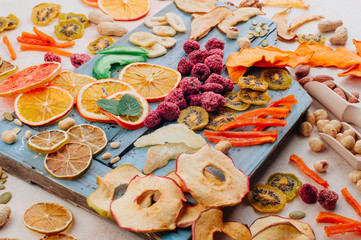
[(46, 155), (44, 167), (55, 178), (72, 180), (88, 170), (92, 159), (91, 148), (85, 143), (67, 143)]

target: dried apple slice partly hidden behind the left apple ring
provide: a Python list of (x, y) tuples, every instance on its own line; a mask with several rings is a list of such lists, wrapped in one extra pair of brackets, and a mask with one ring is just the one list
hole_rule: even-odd
[(123, 184), (128, 184), (135, 176), (144, 177), (145, 175), (136, 167), (123, 164), (105, 174), (103, 178), (97, 177), (98, 188), (87, 197), (88, 206), (102, 217), (112, 218), (110, 203), (113, 200), (115, 189)]

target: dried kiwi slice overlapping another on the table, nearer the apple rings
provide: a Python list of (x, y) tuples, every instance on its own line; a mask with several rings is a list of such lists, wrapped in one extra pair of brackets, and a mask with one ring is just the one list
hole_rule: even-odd
[(286, 205), (286, 195), (276, 187), (258, 183), (247, 194), (251, 206), (261, 213), (275, 213)]

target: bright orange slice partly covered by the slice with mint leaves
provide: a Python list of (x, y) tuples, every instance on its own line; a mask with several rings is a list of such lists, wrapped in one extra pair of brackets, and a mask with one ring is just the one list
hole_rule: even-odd
[(84, 85), (78, 93), (76, 107), (80, 116), (89, 121), (111, 122), (110, 117), (103, 114), (97, 100), (121, 91), (135, 91), (129, 83), (107, 78)]

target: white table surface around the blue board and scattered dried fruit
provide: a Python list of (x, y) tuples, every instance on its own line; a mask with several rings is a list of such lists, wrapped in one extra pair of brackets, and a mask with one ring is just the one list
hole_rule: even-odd
[[(167, 1), (152, 1), (152, 8), (148, 16), (156, 13), (161, 7), (168, 4)], [(28, 67), (33, 64), (38, 64), (43, 61), (44, 53), (40, 52), (20, 52), (19, 45), (16, 43), (16, 37), (21, 34), (22, 31), (31, 32), (32, 22), (30, 20), (31, 9), (33, 6), (42, 3), (42, 0), (0, 0), (0, 16), (7, 16), (10, 13), (15, 14), (21, 19), (20, 25), (16, 30), (7, 31), (0, 33), (0, 37), (8, 35), (9, 40), (15, 46), (15, 50), (18, 54), (18, 59), (15, 64), (20, 69)], [(61, 4), (62, 12), (75, 12), (88, 14), (93, 11), (94, 8), (89, 7), (81, 2), (81, 0), (53, 0), (54, 2)], [(304, 9), (292, 9), (289, 14), (289, 20), (300, 14), (321, 14), (331, 19), (342, 19), (344, 26), (348, 28), (349, 39), (347, 40), (346, 47), (351, 50), (355, 50), (352, 39), (361, 40), (360, 23), (361, 23), (361, 1), (358, 0), (308, 0), (311, 7), (308, 10)], [(280, 11), (281, 8), (264, 7), (263, 11), (267, 13), (265, 17), (271, 18), (274, 13)], [(40, 30), (45, 31), (55, 37), (53, 26), (54, 21), (47, 27), (40, 27)], [(142, 23), (142, 20), (135, 22), (124, 22), (129, 30)], [(296, 33), (318, 33), (317, 22), (310, 22), (302, 26), (295, 31)], [(330, 37), (332, 33), (325, 34), (326, 37)], [(70, 48), (71, 52), (74, 53), (88, 53), (87, 45), (90, 41), (99, 37), (95, 30), (95, 25), (91, 25), (85, 30), (84, 37), (76, 40), (76, 45)], [(236, 44), (236, 43), (235, 43)], [(326, 45), (329, 45), (326, 42)], [(278, 47), (283, 50), (295, 50), (298, 43), (284, 43), (279, 41)], [(236, 51), (235, 47), (235, 51)], [(0, 56), (4, 59), (10, 60), (9, 53), (6, 50), (2, 41), (0, 43)], [(70, 61), (66, 57), (62, 57), (63, 68), (73, 70), (74, 68), (70, 64)], [(317, 74), (329, 74), (335, 77), (335, 81), (346, 89), (351, 91), (361, 92), (361, 81), (357, 78), (337, 78), (336, 74), (341, 70), (331, 68), (314, 68), (311, 69), (311, 75)], [(291, 70), (292, 72), (292, 70)], [(0, 98), (0, 113), (12, 112), (13, 98)], [(314, 102), (311, 106), (311, 110), (316, 110), (322, 106), (317, 102)], [(332, 116), (331, 116), (332, 117)], [(314, 130), (311, 137), (317, 137), (317, 130)], [(252, 178), (251, 185), (262, 182), (264, 183), (268, 176), (274, 172), (290, 172), (296, 174), (303, 183), (311, 183), (317, 188), (321, 189), (320, 186), (315, 183), (312, 179), (308, 178), (303, 174), (297, 167), (289, 163), (289, 156), (293, 153), (302, 157), (308, 166), (312, 166), (313, 162), (319, 159), (327, 159), (330, 163), (330, 167), (326, 173), (320, 174), (330, 184), (329, 189), (336, 191), (339, 194), (339, 201), (336, 209), (333, 211), (337, 214), (341, 214), (345, 217), (361, 220), (350, 205), (346, 203), (340, 190), (347, 187), (351, 194), (361, 202), (361, 192), (356, 189), (355, 184), (349, 182), (348, 174), (353, 170), (339, 155), (337, 155), (327, 144), (325, 144), (325, 150), (320, 153), (312, 152), (308, 147), (308, 138), (301, 136), (297, 131), (294, 131), (287, 138), (286, 143), (282, 145), (274, 154), (271, 156), (269, 161), (257, 172)], [(140, 239), (137, 235), (119, 228), (116, 224), (104, 220), (94, 214), (89, 213), (86, 210), (78, 208), (48, 192), (41, 189), (36, 185), (26, 183), (16, 177), (9, 176), (6, 185), (6, 190), (13, 194), (13, 198), (8, 203), (12, 209), (12, 215), (10, 221), (3, 227), (0, 228), (0, 237), (19, 238), (26, 240), (36, 240), (42, 237), (42, 234), (35, 233), (28, 230), (22, 223), (22, 217), (25, 210), (31, 205), (38, 202), (57, 202), (68, 207), (73, 215), (74, 222), (66, 231), (68, 234), (76, 236), (78, 239)], [(2, 191), (4, 192), (4, 191)], [(1, 193), (1, 192), (0, 192)], [(319, 204), (305, 204), (298, 197), (294, 201), (287, 203), (286, 207), (279, 212), (281, 216), (288, 216), (289, 212), (293, 210), (303, 210), (306, 212), (306, 217), (303, 221), (309, 223), (316, 234), (317, 239), (361, 239), (361, 235), (358, 233), (348, 233), (346, 235), (336, 235), (334, 237), (327, 238), (323, 232), (323, 226), (326, 224), (318, 224), (315, 222), (315, 218), (319, 211), (324, 211)], [(226, 208), (225, 220), (240, 221), (245, 224), (251, 224), (256, 218), (265, 214), (259, 214), (253, 210), (247, 203), (241, 203), (236, 207)]]

